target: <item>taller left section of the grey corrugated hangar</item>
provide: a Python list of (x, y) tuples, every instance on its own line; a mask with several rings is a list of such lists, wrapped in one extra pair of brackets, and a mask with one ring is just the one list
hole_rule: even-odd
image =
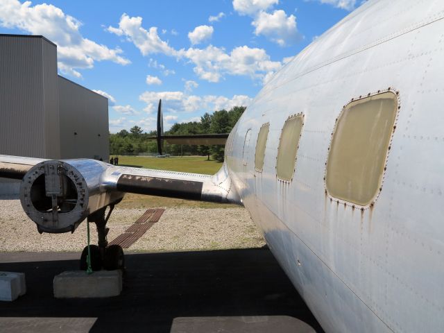
[(0, 35), (0, 153), (60, 158), (57, 47)]

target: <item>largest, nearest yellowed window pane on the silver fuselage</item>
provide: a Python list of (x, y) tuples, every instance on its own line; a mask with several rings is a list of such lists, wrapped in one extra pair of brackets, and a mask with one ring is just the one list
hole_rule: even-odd
[(381, 186), (398, 99), (384, 92), (349, 103), (334, 129), (327, 160), (330, 196), (369, 205)]

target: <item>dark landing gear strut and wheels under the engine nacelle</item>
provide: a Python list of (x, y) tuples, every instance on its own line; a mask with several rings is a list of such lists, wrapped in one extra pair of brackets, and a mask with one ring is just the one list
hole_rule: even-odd
[[(114, 269), (125, 268), (125, 259), (123, 257), (123, 249), (119, 245), (108, 246), (107, 235), (110, 228), (106, 228), (106, 223), (110, 219), (112, 210), (114, 210), (114, 204), (110, 205), (110, 210), (105, 217), (106, 207), (97, 210), (96, 212), (90, 214), (87, 218), (87, 223), (96, 223), (96, 230), (98, 236), (98, 245), (90, 245), (89, 252), (91, 253), (91, 268), (93, 271), (100, 271), (103, 267), (108, 271)], [(87, 270), (87, 255), (88, 246), (82, 251), (80, 256), (80, 269), (82, 271)]]

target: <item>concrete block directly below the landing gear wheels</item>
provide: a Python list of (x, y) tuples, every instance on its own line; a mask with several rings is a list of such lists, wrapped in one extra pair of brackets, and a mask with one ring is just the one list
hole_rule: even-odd
[(53, 280), (56, 298), (103, 298), (122, 291), (122, 273), (117, 271), (66, 271)]

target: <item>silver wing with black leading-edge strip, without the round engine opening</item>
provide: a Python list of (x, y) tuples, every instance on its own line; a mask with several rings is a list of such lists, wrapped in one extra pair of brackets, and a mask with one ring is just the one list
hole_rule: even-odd
[[(37, 164), (57, 164), (57, 160), (0, 155), (0, 177), (22, 180)], [(198, 173), (114, 166), (87, 159), (60, 160), (85, 174), (96, 174), (101, 191), (119, 191), (167, 196), (218, 203), (240, 203), (225, 164), (213, 176)], [(85, 171), (82, 172), (82, 170)], [(98, 172), (93, 172), (93, 170)], [(66, 172), (66, 171), (64, 171)]]

